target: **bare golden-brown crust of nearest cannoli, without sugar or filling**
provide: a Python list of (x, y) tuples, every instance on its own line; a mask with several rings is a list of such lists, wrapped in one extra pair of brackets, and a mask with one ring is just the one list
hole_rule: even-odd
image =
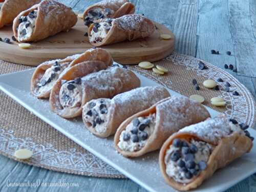
[[(202, 127), (202, 129), (204, 129), (204, 127)], [(199, 185), (202, 184), (204, 180), (211, 177), (216, 172), (217, 169), (225, 167), (234, 159), (237, 159), (243, 154), (248, 153), (252, 147), (251, 139), (237, 132), (234, 132), (233, 134), (220, 139), (218, 144), (215, 145), (214, 151), (212, 151), (208, 159), (207, 168), (203, 170), (199, 174), (199, 176), (196, 177), (192, 182), (184, 185), (182, 183), (176, 182), (173, 178), (170, 178), (166, 174), (166, 165), (164, 162), (164, 157), (169, 146), (172, 144), (173, 140), (176, 138), (187, 139), (187, 140), (190, 138), (193, 138), (193, 139), (202, 140), (205, 142), (209, 142), (209, 140), (203, 139), (202, 137), (198, 137), (197, 134), (195, 133), (191, 134), (189, 132), (178, 132), (170, 136), (164, 142), (159, 154), (160, 170), (165, 181), (170, 186), (174, 187), (177, 190), (190, 190), (193, 188), (197, 188)]]

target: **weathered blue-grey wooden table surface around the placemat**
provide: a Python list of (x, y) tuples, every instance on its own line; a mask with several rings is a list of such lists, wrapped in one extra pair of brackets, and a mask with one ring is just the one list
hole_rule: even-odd
[[(97, 0), (59, 1), (81, 13)], [(192, 55), (224, 69), (234, 65), (239, 79), (255, 97), (256, 84), (256, 1), (255, 0), (132, 0), (136, 13), (144, 13), (176, 35), (176, 51)], [(210, 50), (220, 51), (213, 55)], [(226, 55), (231, 51), (232, 56)], [(145, 191), (129, 179), (103, 179), (62, 174), (25, 165), (0, 156), (0, 191)], [(78, 187), (7, 187), (7, 182), (77, 183)], [(256, 191), (256, 174), (228, 191)]]

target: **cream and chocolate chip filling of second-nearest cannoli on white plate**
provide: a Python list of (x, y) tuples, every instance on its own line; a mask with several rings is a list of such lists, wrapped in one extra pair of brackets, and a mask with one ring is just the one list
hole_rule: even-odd
[(141, 150), (153, 134), (156, 125), (156, 114), (138, 117), (121, 132), (118, 147), (122, 151), (136, 152)]

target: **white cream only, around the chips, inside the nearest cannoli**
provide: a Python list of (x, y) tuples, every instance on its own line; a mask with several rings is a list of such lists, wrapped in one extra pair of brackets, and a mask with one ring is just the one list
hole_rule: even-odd
[[(197, 152), (195, 153), (195, 158), (194, 161), (195, 163), (199, 163), (200, 161), (205, 161), (207, 162), (209, 159), (209, 156), (214, 148), (214, 146), (210, 145), (209, 143), (203, 142), (203, 141), (196, 141), (196, 140), (191, 140), (189, 143), (189, 146), (191, 144), (195, 144), (197, 146)], [(179, 150), (178, 147), (175, 147), (171, 145), (169, 149), (166, 151), (166, 155), (164, 158), (165, 165), (166, 165), (166, 174), (169, 177), (172, 177), (175, 181), (179, 183), (190, 183), (195, 176), (193, 176), (191, 179), (187, 179), (185, 177), (185, 172), (182, 171), (182, 168), (178, 166), (177, 162), (178, 161), (172, 161), (170, 160), (170, 155), (174, 151)], [(182, 155), (181, 158), (184, 162), (184, 156)], [(196, 165), (196, 169), (198, 169), (198, 165)]]

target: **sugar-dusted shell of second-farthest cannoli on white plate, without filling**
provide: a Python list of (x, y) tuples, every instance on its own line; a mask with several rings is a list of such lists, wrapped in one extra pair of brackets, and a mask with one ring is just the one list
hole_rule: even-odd
[[(101, 62), (101, 61), (89, 61)], [(103, 62), (101, 62), (103, 63)], [(81, 72), (79, 70), (81, 63), (70, 68), (66, 74), (55, 83), (50, 96), (50, 106), (53, 112), (63, 118), (74, 118), (82, 115), (82, 106), (92, 99), (112, 98), (119, 93), (130, 91), (140, 86), (139, 78), (131, 71), (119, 67), (111, 67), (107, 70), (102, 70), (97, 73), (92, 73), (90, 70)], [(89, 68), (89, 65), (87, 65)], [(96, 65), (95, 65), (96, 66)], [(73, 69), (75, 68), (75, 70)], [(102, 68), (102, 67), (101, 67)], [(90, 71), (90, 75), (88, 71)], [(59, 102), (59, 91), (61, 88), (61, 80), (72, 80), (76, 77), (82, 77), (82, 103), (80, 107), (67, 109), (62, 108)]]

